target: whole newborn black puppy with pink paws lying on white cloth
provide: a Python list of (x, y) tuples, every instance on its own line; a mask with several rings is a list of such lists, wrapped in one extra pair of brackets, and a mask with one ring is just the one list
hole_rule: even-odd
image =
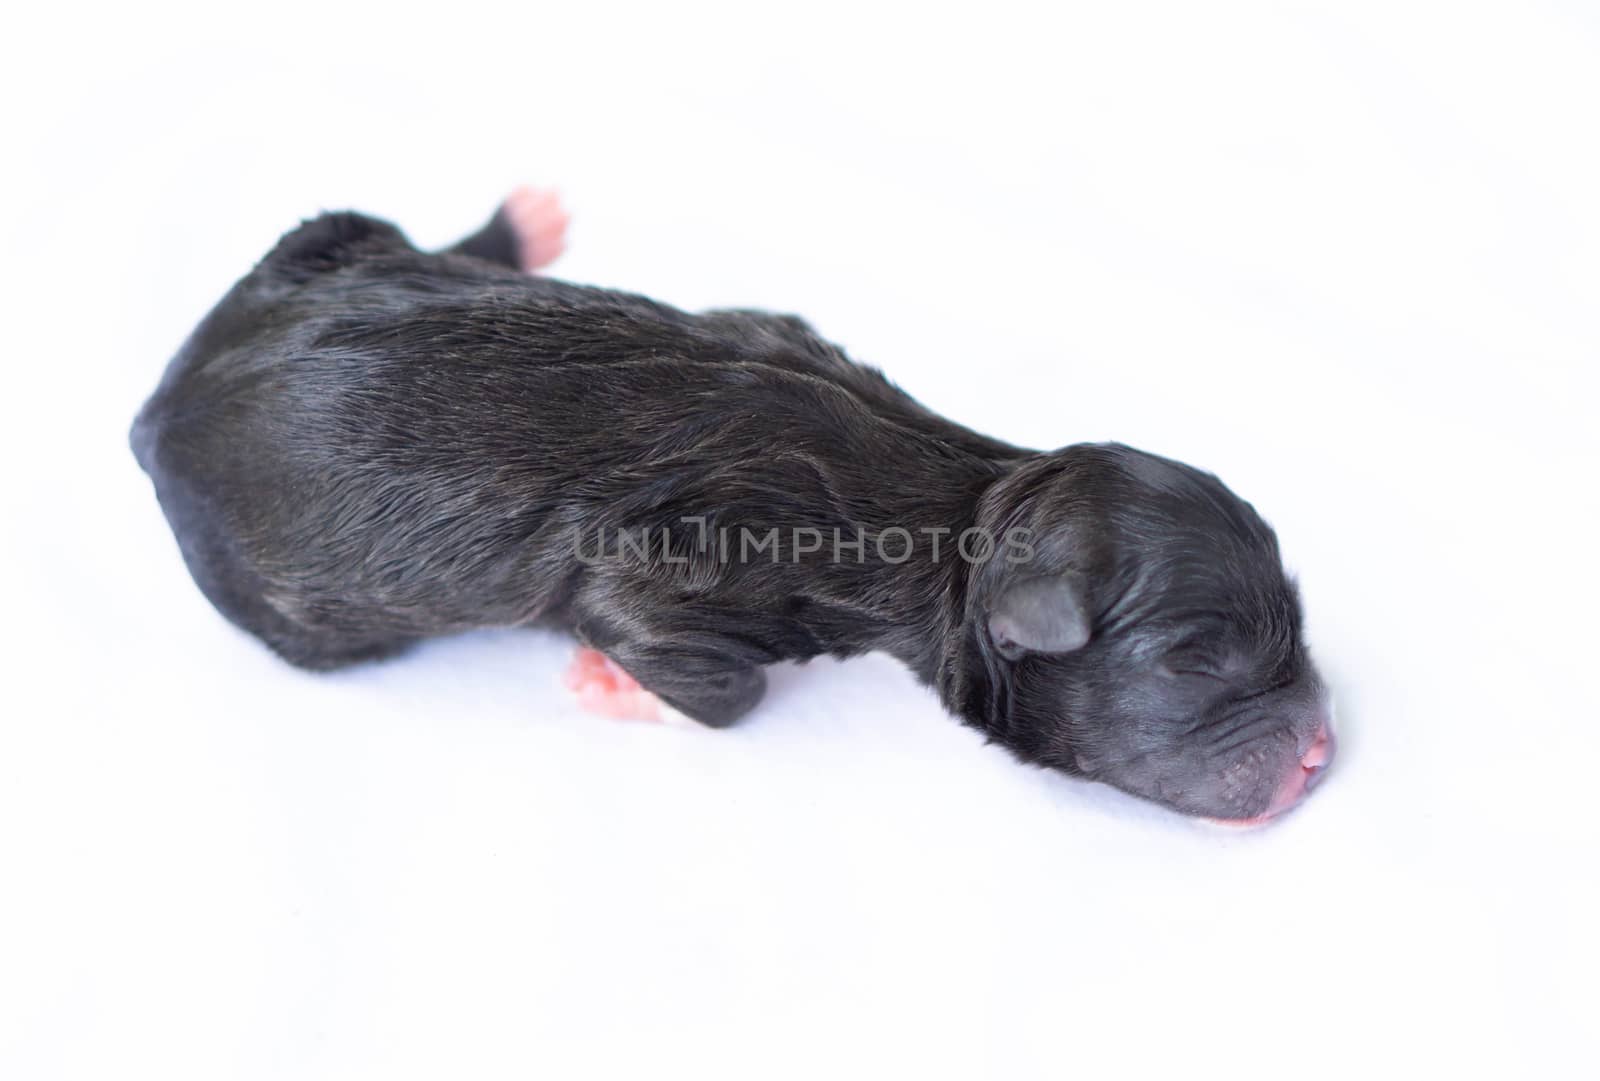
[(883, 649), (1019, 758), (1186, 814), (1322, 776), (1294, 587), (1214, 477), (978, 435), (794, 317), (526, 273), (563, 227), (528, 189), (442, 254), (325, 214), (200, 323), (131, 441), (224, 616), (309, 668), (544, 620), (598, 651), (587, 704), (712, 726), (763, 665)]

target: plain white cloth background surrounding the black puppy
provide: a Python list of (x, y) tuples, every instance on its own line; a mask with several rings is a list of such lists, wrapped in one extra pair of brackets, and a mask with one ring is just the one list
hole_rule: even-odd
[[(1592, 6), (400, 8), (10, 19), (0, 1076), (1592, 1068)], [(558, 275), (1216, 470), (1322, 792), (1222, 833), (883, 657), (694, 734), (578, 713), (554, 635), (234, 630), (125, 445), (166, 358), (301, 216), (442, 245), (522, 181)]]

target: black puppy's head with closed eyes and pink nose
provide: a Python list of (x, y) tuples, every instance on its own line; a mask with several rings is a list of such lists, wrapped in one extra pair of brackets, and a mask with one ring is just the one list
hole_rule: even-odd
[(1024, 462), (981, 521), (966, 627), (984, 726), (1018, 755), (1184, 814), (1254, 822), (1333, 758), (1277, 537), (1179, 462), (1118, 445)]

